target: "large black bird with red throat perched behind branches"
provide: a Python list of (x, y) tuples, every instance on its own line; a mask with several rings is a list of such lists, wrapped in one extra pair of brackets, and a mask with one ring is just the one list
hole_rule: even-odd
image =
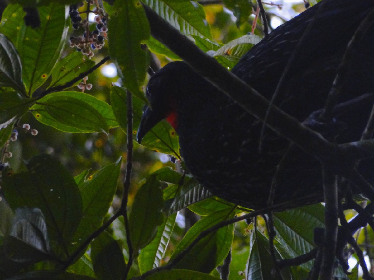
[[(325, 107), (347, 45), (373, 7), (373, 0), (322, 0), (271, 31), (231, 72), (271, 100), (288, 67), (273, 102), (304, 122)], [(374, 25), (355, 44), (338, 104), (349, 105), (365, 94), (373, 96), (373, 50)], [(275, 184), (275, 210), (323, 201), (321, 163), (270, 128), (263, 130), (262, 121), (187, 63), (170, 62), (156, 72), (148, 81), (146, 96), (150, 106), (144, 109), (138, 142), (167, 119), (179, 136), (187, 168), (214, 195), (258, 210), (269, 205)], [(343, 123), (344, 129), (331, 141), (339, 144), (361, 138), (373, 107), (371, 97), (343, 106), (334, 120)], [(359, 167), (370, 182), (374, 182), (373, 163), (367, 159)]]

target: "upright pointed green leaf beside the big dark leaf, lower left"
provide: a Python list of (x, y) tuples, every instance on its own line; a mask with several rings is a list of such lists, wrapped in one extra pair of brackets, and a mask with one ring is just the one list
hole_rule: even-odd
[(102, 168), (79, 184), (82, 213), (85, 218), (80, 221), (72, 238), (71, 251), (77, 249), (92, 233), (92, 230), (101, 227), (116, 193), (121, 160), (120, 158), (114, 164)]

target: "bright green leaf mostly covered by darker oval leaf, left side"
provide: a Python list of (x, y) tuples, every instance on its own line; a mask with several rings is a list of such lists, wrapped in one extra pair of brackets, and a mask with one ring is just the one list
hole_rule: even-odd
[(87, 94), (87, 93), (82, 93), (80, 91), (61, 91), (61, 92), (56, 92), (56, 93), (51, 93), (43, 98), (39, 99), (39, 102), (35, 104), (31, 109), (33, 110), (33, 115), (34, 117), (42, 122), (43, 124), (50, 125), (52, 127), (57, 128), (58, 130), (65, 131), (65, 132), (83, 132), (82, 130), (79, 130), (78, 128), (71, 127), (68, 125), (63, 125), (60, 122), (56, 121), (46, 110), (45, 106), (43, 104), (39, 103), (44, 103), (47, 102), (52, 97), (55, 96), (65, 96), (65, 97), (71, 97), (78, 99), (80, 101), (83, 101), (89, 105), (91, 105), (96, 111), (98, 111), (104, 118), (107, 123), (108, 128), (114, 128), (118, 127), (118, 122), (116, 121), (116, 117), (114, 116), (113, 110), (111, 106), (101, 100), (98, 100), (96, 97)]

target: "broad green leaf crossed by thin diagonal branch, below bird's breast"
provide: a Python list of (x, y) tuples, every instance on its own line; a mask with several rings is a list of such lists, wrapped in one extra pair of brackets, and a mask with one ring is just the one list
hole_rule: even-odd
[[(202, 218), (187, 231), (175, 247), (171, 260), (182, 252), (199, 234), (220, 221), (234, 217), (233, 209), (214, 212)], [(201, 239), (176, 265), (175, 268), (210, 273), (223, 262), (234, 238), (234, 224), (227, 225)]]

